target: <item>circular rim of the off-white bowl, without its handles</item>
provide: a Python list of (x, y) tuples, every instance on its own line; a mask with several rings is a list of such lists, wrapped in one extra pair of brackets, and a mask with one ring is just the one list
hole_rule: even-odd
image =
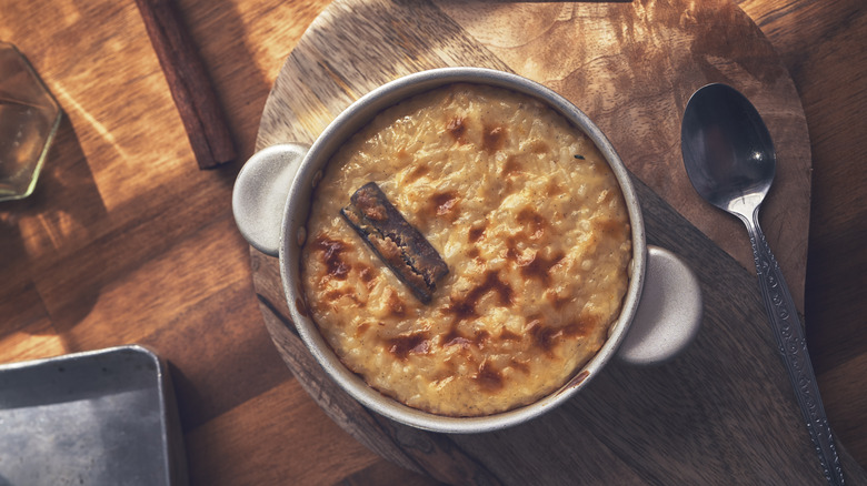
[[(551, 394), (507, 412), (471, 417), (436, 415), (383, 395), (346, 367), (312, 318), (306, 311), (299, 311), (299, 304), (303, 306), (303, 291), (298, 279), (299, 254), (306, 239), (310, 195), (321, 176), (322, 168), (337, 148), (383, 109), (415, 94), (457, 82), (487, 84), (530, 95), (581, 130), (592, 140), (611, 168), (624, 193), (632, 232), (629, 286), (620, 315), (611, 324), (602, 347), (582, 367), (576, 369), (572, 378)], [(305, 345), (326, 373), (367, 408), (396, 422), (439, 433), (482, 433), (515, 426), (562, 404), (584, 388), (612, 358), (628, 331), (641, 295), (646, 260), (644, 219), (631, 175), (602, 131), (581, 110), (554, 90), (521, 75), (487, 68), (437, 68), (416, 72), (385, 83), (347, 107), (316, 139), (299, 166), (283, 210), (279, 244), (280, 277), (292, 322)]]

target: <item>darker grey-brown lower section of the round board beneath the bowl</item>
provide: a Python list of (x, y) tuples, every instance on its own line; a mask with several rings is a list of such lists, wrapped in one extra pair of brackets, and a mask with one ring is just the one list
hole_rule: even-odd
[[(674, 362), (610, 365), (579, 397), (531, 423), (490, 434), (441, 435), (365, 409), (330, 382), (293, 333), (277, 260), (251, 250), (266, 325), (298, 381), (337, 424), (389, 460), (438, 480), (824, 484), (806, 429), (797, 427), (799, 411), (759, 297), (748, 284), (751, 276), (636, 182), (649, 242), (676, 249), (698, 273), (706, 293), (705, 328)], [(707, 292), (720, 281), (735, 291)], [(677, 419), (666, 419), (667, 414)], [(850, 480), (867, 480), (841, 452)]]

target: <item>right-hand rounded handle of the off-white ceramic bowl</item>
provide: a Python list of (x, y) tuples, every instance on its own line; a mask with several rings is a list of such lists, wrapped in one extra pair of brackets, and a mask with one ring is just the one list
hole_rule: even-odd
[(632, 324), (617, 356), (630, 364), (666, 362), (684, 351), (701, 326), (701, 288), (677, 255), (647, 245), (647, 274)]

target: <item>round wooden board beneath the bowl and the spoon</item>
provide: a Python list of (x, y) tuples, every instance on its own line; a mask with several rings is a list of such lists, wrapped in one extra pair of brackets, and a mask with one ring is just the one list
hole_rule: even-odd
[[(432, 434), (367, 411), (323, 374), (288, 317), (278, 261), (251, 250), (268, 331), (316, 402), (383, 457), (447, 483), (823, 484), (765, 318), (746, 234), (699, 200), (680, 158), (682, 110), (696, 89), (726, 82), (756, 104), (779, 161), (763, 224), (803, 310), (807, 126), (794, 84), (759, 29), (722, 0), (338, 0), (281, 70), (257, 146), (310, 143), (377, 85), (447, 65), (525, 75), (597, 122), (636, 175), (649, 243), (674, 250), (698, 274), (704, 327), (676, 360), (652, 367), (612, 363), (579, 396), (530, 423), (489, 434)], [(851, 483), (867, 483), (839, 450)]]

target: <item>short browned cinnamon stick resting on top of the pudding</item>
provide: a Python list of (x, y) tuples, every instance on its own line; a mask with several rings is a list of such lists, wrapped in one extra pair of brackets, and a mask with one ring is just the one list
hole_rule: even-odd
[(425, 236), (403, 219), (376, 182), (368, 182), (340, 210), (361, 239), (412, 294), (429, 303), (437, 282), (449, 273)]

